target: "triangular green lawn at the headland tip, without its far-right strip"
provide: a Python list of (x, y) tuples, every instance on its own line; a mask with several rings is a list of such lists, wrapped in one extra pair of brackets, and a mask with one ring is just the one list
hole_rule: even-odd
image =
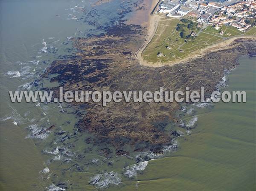
[[(178, 23), (182, 24), (179, 19), (166, 19), (159, 22), (156, 34), (143, 51), (144, 60), (150, 62), (180, 60), (192, 51), (222, 40), (221, 35), (216, 37), (216, 33), (209, 34), (210, 31), (201, 32), (195, 28), (193, 30), (186, 29), (186, 33), (195, 31), (199, 35), (194, 39), (185, 41), (184, 38), (180, 37), (180, 31), (176, 30)], [(158, 53), (162, 53), (163, 57), (157, 57)]]

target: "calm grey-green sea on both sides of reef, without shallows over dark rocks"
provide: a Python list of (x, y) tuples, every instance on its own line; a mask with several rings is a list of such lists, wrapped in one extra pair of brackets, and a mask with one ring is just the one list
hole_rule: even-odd
[[(4, 3), (7, 4), (3, 6)], [(77, 4), (76, 1), (56, 1), (51, 2), (52, 4), (41, 1), (40, 6), (34, 2), (29, 5), (30, 11), (27, 11), (27, 1), (25, 4), (22, 1), (17, 2), (18, 4), (12, 1), (4, 3), (1, 4), (1, 8), (5, 7), (1, 9), (1, 15), (5, 15), (1, 17), (1, 26), (4, 26), (1, 28), (1, 190), (47, 190), (46, 187), (52, 182), (58, 183), (58, 178), (79, 185), (79, 190), (97, 190), (88, 184), (93, 175), (101, 173), (102, 170), (122, 174), (124, 165), (134, 161), (120, 157), (114, 166), (106, 163), (99, 166), (89, 165), (83, 172), (69, 171), (63, 174), (63, 169), (70, 167), (69, 163), (58, 160), (48, 164), (49, 158), (55, 156), (44, 153), (45, 148), (49, 151), (55, 148), (52, 147), (54, 134), (50, 134), (45, 140), (26, 138), (29, 134), (28, 127), (35, 123), (41, 125), (43, 111), (47, 113), (51, 124), (57, 124), (64, 131), (72, 132), (77, 119), (72, 114), (60, 112), (58, 105), (42, 104), (41, 108), (26, 103), (12, 105), (8, 96), (9, 90), (16, 90), (18, 86), (33, 80), (21, 79), (22, 74), (21, 77), (9, 76), (8, 71), (30, 66), (31, 71), (40, 74), (47, 66), (28, 62), (51, 61), (58, 56), (38, 54), (43, 47), (43, 38), (47, 45), (60, 48), (60, 54), (64, 54), (65, 47), (61, 43), (66, 37), (76, 36), (76, 29), (84, 31), (89, 26), (67, 20), (71, 9)], [(109, 6), (108, 9), (112, 10), (111, 5)], [(103, 6), (98, 9), (103, 9)], [(30, 17), (31, 15), (34, 16)], [(70, 26), (69, 30), (67, 25)], [(22, 62), (27, 63), (22, 65)], [(122, 184), (111, 185), (108, 190), (255, 190), (255, 67), (255, 57), (244, 57), (241, 65), (227, 77), (229, 87), (225, 90), (246, 91), (247, 103), (218, 103), (213, 109), (198, 109), (197, 126), (191, 135), (178, 139), (180, 148), (177, 152), (149, 161), (145, 171), (138, 173), (137, 177), (131, 180), (122, 177)], [(65, 123), (67, 119), (69, 124)], [(17, 125), (13, 124), (14, 121), (17, 121)], [(84, 138), (86, 135), (83, 134), (76, 142), (74, 151), (78, 154), (90, 146), (85, 145)], [(86, 160), (79, 162), (90, 162), (93, 158), (103, 160), (95, 151), (86, 154)], [(50, 169), (50, 174), (42, 175), (40, 171), (46, 166)], [(57, 176), (54, 177), (53, 174)], [(73, 188), (76, 190), (78, 186)]]

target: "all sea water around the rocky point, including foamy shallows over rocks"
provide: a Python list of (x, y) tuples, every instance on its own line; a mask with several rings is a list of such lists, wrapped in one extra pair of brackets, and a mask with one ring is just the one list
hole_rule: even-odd
[(35, 136), (53, 124), (54, 132), (73, 134), (78, 117), (68, 105), (10, 103), (8, 91), (35, 89), (31, 82), (52, 60), (76, 51), (70, 37), (104, 33), (131, 2), (0, 3), (1, 190), (65, 189), (61, 184), (73, 190), (255, 190), (255, 58), (243, 57), (227, 77), (226, 89), (246, 91), (247, 103), (187, 106), (183, 123), (196, 128), (175, 140), (177, 152), (138, 164), (127, 157), (108, 161), (84, 143), (88, 134), (70, 136), (74, 145), (62, 142), (65, 134)]

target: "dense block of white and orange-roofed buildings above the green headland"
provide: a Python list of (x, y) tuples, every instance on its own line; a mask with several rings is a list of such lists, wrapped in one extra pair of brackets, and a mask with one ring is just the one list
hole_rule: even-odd
[(245, 32), (252, 27), (246, 20), (256, 19), (256, 0), (161, 0), (158, 12), (167, 17), (194, 17), (215, 29), (227, 25)]

